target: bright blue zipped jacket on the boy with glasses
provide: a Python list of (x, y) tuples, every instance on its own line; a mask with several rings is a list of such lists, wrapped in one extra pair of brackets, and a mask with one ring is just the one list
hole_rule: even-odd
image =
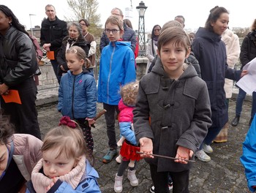
[(120, 87), (135, 79), (135, 55), (130, 42), (110, 42), (100, 58), (98, 102), (118, 105)]

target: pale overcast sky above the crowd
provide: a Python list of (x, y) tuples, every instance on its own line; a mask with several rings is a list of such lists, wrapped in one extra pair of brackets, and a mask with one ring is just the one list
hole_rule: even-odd
[[(138, 29), (138, 10), (140, 0), (97, 0), (99, 7), (97, 13), (100, 14), (101, 24), (104, 26), (105, 20), (110, 15), (113, 7), (123, 10), (130, 8), (132, 12), (133, 29)], [(185, 18), (185, 29), (196, 31), (198, 27), (204, 26), (208, 18), (209, 11), (215, 6), (225, 7), (230, 12), (230, 29), (233, 27), (250, 27), (255, 20), (255, 6), (249, 6), (247, 3), (232, 0), (143, 0), (146, 7), (145, 12), (145, 29), (151, 32), (154, 25), (162, 26), (168, 20), (173, 20), (176, 15), (183, 15)], [(45, 5), (53, 4), (56, 8), (58, 18), (64, 20), (64, 15), (68, 18), (72, 15), (66, 0), (0, 0), (0, 4), (9, 7), (20, 23), (30, 29), (31, 26), (41, 26), (42, 19), (45, 15)], [(131, 8), (132, 7), (132, 8)]]

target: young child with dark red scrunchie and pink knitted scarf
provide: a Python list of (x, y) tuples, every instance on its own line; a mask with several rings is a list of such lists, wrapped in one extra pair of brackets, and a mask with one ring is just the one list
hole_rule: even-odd
[(45, 135), (41, 150), (27, 192), (100, 192), (83, 132), (68, 116)]

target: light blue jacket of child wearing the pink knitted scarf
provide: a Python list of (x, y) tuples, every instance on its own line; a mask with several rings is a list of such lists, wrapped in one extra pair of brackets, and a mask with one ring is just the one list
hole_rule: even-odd
[[(78, 186), (73, 189), (72, 186), (69, 185), (66, 181), (56, 181), (56, 183), (51, 187), (51, 189), (47, 193), (99, 193), (101, 192), (99, 189), (99, 184), (97, 182), (97, 178), (99, 178), (99, 174), (91, 167), (91, 164), (86, 160), (86, 175), (85, 178), (80, 181)], [(30, 183), (27, 183), (28, 189), (26, 189), (26, 193), (34, 193), (34, 188)]]

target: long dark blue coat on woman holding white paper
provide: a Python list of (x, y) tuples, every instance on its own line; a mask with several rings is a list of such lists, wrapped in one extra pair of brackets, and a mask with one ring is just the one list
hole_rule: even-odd
[(241, 71), (227, 66), (225, 43), (221, 36), (199, 28), (192, 43), (195, 58), (199, 61), (202, 79), (206, 81), (211, 100), (212, 127), (222, 127), (228, 121), (225, 77), (238, 80)]

